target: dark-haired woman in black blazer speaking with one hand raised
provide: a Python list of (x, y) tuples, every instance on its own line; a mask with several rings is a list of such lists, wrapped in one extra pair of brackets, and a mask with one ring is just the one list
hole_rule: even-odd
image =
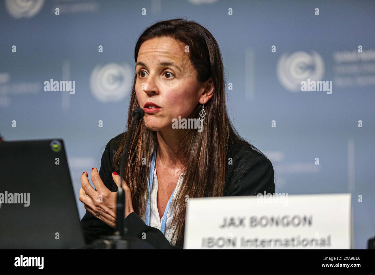
[[(134, 60), (127, 129), (135, 108), (145, 115), (129, 137), (124, 224), (128, 236), (155, 248), (182, 248), (189, 198), (274, 193), (273, 167), (228, 118), (222, 56), (206, 28), (186, 19), (157, 22), (139, 37)], [(81, 176), (87, 243), (115, 230), (126, 135), (112, 138), (100, 171), (91, 170), (96, 189), (87, 172)]]

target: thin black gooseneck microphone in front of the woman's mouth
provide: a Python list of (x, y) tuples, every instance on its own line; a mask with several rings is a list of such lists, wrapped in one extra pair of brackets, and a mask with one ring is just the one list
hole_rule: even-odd
[(127, 129), (127, 135), (124, 145), (124, 152), (121, 157), (121, 164), (120, 164), (120, 187), (118, 187), (117, 191), (117, 202), (116, 202), (116, 232), (114, 235), (119, 235), (121, 237), (124, 236), (124, 216), (125, 216), (125, 192), (122, 188), (122, 181), (125, 174), (125, 164), (127, 163), (127, 154), (129, 152), (129, 143), (130, 138), (133, 135), (135, 122), (139, 119), (142, 119), (144, 116), (144, 110), (142, 108), (135, 108), (132, 113), (132, 123), (130, 125), (130, 129)]

